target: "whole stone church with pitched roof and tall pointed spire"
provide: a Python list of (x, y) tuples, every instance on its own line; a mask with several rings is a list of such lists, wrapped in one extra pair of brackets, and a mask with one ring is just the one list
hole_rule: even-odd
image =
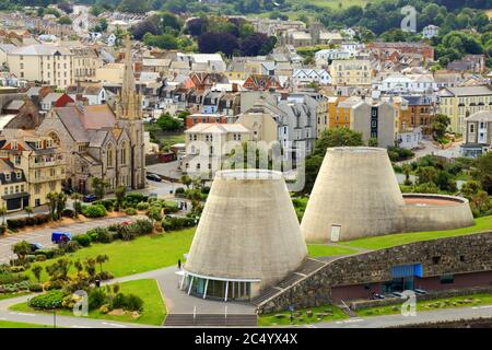
[(117, 187), (145, 187), (142, 95), (137, 92), (130, 38), (126, 38), (125, 75), (116, 97), (102, 105), (77, 101), (52, 107), (36, 129), (65, 153), (65, 187), (93, 191), (94, 178)]

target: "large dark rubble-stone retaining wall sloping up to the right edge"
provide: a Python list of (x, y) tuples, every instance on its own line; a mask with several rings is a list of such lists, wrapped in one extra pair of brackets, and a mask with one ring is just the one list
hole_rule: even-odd
[(340, 257), (258, 307), (258, 313), (313, 307), (332, 301), (333, 287), (391, 280), (391, 267), (422, 264), (422, 277), (492, 271), (492, 232), (405, 244)]

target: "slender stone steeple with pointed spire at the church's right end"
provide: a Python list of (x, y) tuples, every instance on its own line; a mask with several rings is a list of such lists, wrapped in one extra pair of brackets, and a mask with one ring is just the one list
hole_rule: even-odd
[(115, 114), (118, 127), (130, 135), (131, 188), (143, 188), (145, 184), (145, 151), (143, 141), (142, 95), (137, 93), (133, 77), (131, 40), (125, 39), (125, 74), (121, 92), (116, 96)]

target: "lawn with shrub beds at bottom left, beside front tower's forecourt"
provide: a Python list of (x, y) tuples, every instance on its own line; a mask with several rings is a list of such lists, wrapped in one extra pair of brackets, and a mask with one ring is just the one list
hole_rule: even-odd
[[(89, 312), (89, 318), (109, 319), (116, 322), (138, 323), (143, 325), (162, 325), (166, 316), (166, 306), (159, 291), (157, 282), (151, 279), (136, 280), (120, 283), (122, 293), (132, 293), (139, 295), (143, 300), (143, 312), (138, 318), (133, 318), (131, 314), (109, 315), (103, 314), (97, 310)], [(20, 303), (10, 307), (12, 311), (24, 313), (42, 313), (27, 306), (27, 303)], [(73, 316), (70, 310), (59, 310), (57, 315)]]

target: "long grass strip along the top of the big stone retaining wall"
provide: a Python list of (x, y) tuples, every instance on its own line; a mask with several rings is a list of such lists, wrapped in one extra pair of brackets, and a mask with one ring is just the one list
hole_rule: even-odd
[(475, 220), (476, 224), (470, 228), (462, 228), (447, 231), (429, 231), (429, 232), (410, 232), (388, 234), (385, 236), (360, 238), (354, 241), (340, 242), (340, 245), (347, 247), (360, 247), (365, 249), (384, 249), (397, 245), (402, 245), (412, 242), (436, 240), (444, 237), (453, 237), (472, 234), (477, 232), (492, 230), (492, 215), (478, 218)]

